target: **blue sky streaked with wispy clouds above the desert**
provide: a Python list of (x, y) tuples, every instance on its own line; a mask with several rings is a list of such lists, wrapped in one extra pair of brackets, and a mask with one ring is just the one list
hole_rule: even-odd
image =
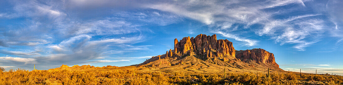
[(342, 0), (1, 0), (0, 67), (129, 66), (174, 39), (261, 48), (285, 71), (343, 75)]

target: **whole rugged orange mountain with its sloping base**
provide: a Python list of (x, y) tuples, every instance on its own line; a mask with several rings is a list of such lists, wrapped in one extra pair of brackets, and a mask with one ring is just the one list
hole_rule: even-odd
[[(199, 34), (195, 38), (185, 37), (180, 41), (174, 40), (174, 50), (165, 54), (153, 56), (139, 67), (155, 68), (187, 68), (189, 70), (210, 71), (224, 69), (235, 71), (283, 71), (275, 62), (274, 54), (263, 49), (237, 51), (232, 42), (217, 40), (217, 36)], [(239, 70), (240, 69), (240, 70)], [(173, 69), (170, 69), (173, 70)]]

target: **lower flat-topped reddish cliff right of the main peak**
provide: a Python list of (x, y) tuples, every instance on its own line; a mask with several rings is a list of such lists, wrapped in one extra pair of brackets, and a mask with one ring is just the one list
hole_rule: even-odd
[(236, 51), (237, 59), (254, 59), (256, 63), (271, 63), (277, 67), (278, 64), (275, 62), (274, 54), (269, 53), (263, 49), (252, 49), (252, 50), (240, 50)]

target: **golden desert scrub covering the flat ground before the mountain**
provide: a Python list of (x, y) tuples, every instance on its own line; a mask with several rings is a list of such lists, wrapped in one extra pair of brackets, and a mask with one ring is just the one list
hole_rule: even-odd
[[(82, 66), (81, 66), (82, 67)], [(147, 67), (84, 67), (0, 72), (0, 85), (342, 85), (343, 76), (298, 73), (182, 73)], [(92, 69), (91, 69), (92, 68)]]

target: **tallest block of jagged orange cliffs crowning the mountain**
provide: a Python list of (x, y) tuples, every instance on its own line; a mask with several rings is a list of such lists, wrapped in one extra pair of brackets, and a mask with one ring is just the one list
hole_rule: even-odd
[[(208, 55), (206, 51), (212, 52), (215, 50), (216, 57), (221, 57), (224, 55), (231, 55), (235, 57), (235, 48), (232, 42), (228, 40), (217, 40), (217, 35), (206, 36), (205, 34), (199, 34), (195, 38), (185, 37), (178, 42), (177, 39), (174, 40), (175, 52), (178, 49), (181, 53), (185, 54), (188, 51), (194, 52), (195, 55)], [(212, 56), (209, 56), (212, 57)]]

